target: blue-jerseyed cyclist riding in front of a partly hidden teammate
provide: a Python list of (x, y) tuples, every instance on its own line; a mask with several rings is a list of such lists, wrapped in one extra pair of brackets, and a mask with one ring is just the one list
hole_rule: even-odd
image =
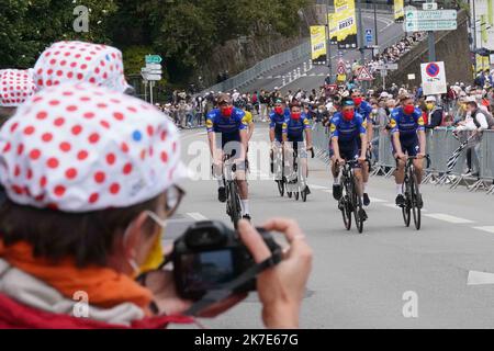
[[(329, 150), (332, 157), (332, 172), (334, 177), (333, 196), (339, 201), (343, 195), (339, 180), (339, 167), (348, 160), (358, 160), (355, 165), (355, 176), (357, 178), (357, 192), (362, 197), (362, 171), (361, 165), (366, 161), (367, 155), (367, 122), (355, 111), (352, 99), (344, 98), (341, 100), (341, 111), (335, 113), (332, 120), (332, 147)], [(360, 145), (359, 145), (360, 143)], [(367, 214), (362, 210), (359, 214), (366, 220)]]

